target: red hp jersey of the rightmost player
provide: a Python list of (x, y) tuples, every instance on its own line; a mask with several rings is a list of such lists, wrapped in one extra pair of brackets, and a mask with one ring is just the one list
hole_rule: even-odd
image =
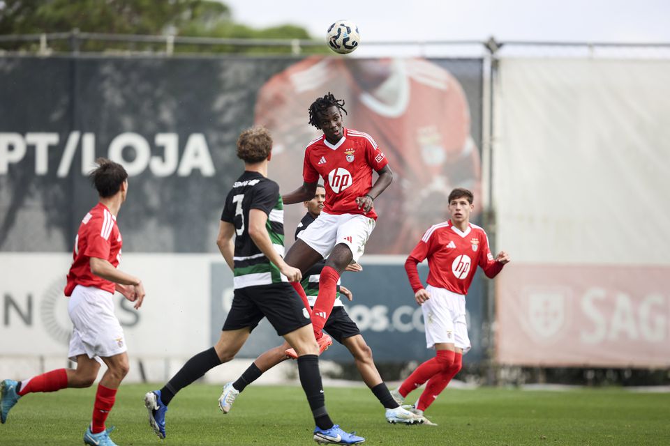
[(475, 277), (477, 265), (486, 277), (496, 277), (502, 263), (493, 259), (484, 229), (468, 224), (462, 232), (451, 220), (433, 224), (405, 261), (405, 271), (416, 293), (424, 286), (419, 280), (417, 263), (428, 258), (428, 284), (452, 293), (466, 295)]

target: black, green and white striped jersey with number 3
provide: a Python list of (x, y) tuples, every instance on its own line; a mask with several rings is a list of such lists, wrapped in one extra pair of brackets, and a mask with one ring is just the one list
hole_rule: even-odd
[(235, 226), (234, 289), (288, 282), (251, 240), (248, 231), (251, 209), (267, 214), (267, 233), (276, 251), (284, 255), (284, 205), (279, 185), (258, 172), (245, 171), (232, 185), (221, 213), (223, 222)]

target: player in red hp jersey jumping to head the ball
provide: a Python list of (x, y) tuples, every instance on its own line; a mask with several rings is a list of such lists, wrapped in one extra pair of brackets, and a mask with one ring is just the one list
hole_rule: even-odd
[[(373, 201), (393, 180), (388, 161), (374, 139), (343, 127), (343, 106), (343, 100), (328, 93), (309, 107), (309, 123), (323, 134), (305, 149), (303, 185), (282, 197), (285, 204), (311, 200), (319, 177), (324, 180), (326, 201), (321, 215), (298, 236), (285, 257), (286, 263), (303, 273), (327, 259), (311, 312), (321, 351), (332, 344), (329, 337), (322, 336), (322, 330), (333, 309), (337, 281), (349, 263), (362, 256), (376, 224)], [(379, 175), (374, 185), (373, 171)], [(293, 285), (309, 309), (304, 290), (299, 283)]]

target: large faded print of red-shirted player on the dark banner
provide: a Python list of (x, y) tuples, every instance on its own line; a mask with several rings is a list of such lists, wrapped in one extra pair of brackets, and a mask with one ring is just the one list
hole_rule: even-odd
[[(328, 92), (345, 100), (344, 126), (370, 134), (394, 171), (375, 201), (380, 219), (366, 253), (406, 254), (427, 227), (449, 218), (454, 187), (475, 192), (473, 217), (481, 209), (481, 89), (477, 59), (312, 57), (262, 87), (255, 122), (271, 130), (273, 174), (290, 192), (302, 184), (306, 145), (322, 133), (308, 124), (309, 105)], [(301, 211), (288, 206), (287, 220), (299, 220)]]

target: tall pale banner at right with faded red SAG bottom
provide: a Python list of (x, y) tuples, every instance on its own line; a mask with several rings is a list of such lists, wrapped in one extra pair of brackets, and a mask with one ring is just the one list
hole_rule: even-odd
[(498, 360), (668, 367), (670, 62), (503, 59)]

